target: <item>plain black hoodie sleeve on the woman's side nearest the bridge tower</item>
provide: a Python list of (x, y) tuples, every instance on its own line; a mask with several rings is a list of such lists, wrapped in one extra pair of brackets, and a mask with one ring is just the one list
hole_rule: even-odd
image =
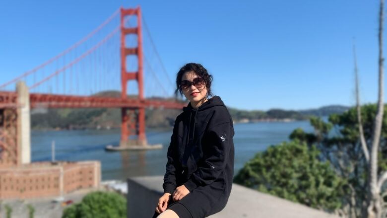
[(171, 143), (168, 147), (167, 152), (167, 166), (166, 166), (166, 173), (164, 175), (164, 193), (170, 193), (172, 195), (173, 191), (176, 189), (176, 165), (178, 161), (177, 153), (178, 153), (178, 147), (177, 147), (177, 124), (178, 124), (178, 118), (176, 118), (175, 125), (173, 127), (173, 133), (171, 136)]

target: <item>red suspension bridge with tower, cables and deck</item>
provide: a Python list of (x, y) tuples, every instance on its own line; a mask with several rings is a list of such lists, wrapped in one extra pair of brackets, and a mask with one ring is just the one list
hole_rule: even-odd
[[(0, 84), (0, 150), (17, 144), (17, 108), (22, 105), (14, 88), (20, 81), (30, 91), (30, 108), (121, 108), (124, 147), (147, 146), (145, 108), (184, 106), (172, 97), (173, 82), (139, 7), (120, 8), (61, 54)], [(119, 87), (121, 97), (96, 95)]]

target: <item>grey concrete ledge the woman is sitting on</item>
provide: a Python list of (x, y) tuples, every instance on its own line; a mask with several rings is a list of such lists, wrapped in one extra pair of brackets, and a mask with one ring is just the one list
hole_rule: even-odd
[[(163, 194), (162, 176), (128, 179), (128, 218), (152, 217)], [(227, 206), (209, 218), (335, 218), (336, 216), (233, 184)]]

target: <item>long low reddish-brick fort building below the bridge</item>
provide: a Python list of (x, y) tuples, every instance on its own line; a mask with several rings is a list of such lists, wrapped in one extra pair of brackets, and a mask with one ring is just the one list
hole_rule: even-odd
[(99, 161), (34, 162), (0, 168), (0, 199), (56, 197), (99, 187)]

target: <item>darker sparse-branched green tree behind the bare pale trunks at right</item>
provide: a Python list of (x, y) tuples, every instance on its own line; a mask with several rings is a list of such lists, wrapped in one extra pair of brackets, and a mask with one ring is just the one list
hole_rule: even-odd
[[(387, 110), (386, 106), (384, 110)], [(361, 107), (364, 138), (369, 146), (372, 145), (376, 112), (376, 104)], [(369, 201), (366, 191), (369, 182), (368, 163), (360, 142), (356, 107), (341, 115), (330, 115), (328, 122), (320, 118), (312, 118), (311, 125), (314, 127), (314, 133), (305, 133), (302, 129), (296, 129), (290, 138), (307, 143), (308, 146), (315, 145), (321, 151), (320, 159), (329, 161), (337, 175), (347, 179), (350, 192), (342, 201), (343, 205), (348, 207), (343, 207), (341, 213), (348, 217), (365, 217), (367, 208), (364, 205)], [(386, 112), (382, 127), (378, 154), (379, 176), (387, 170)], [(384, 192), (387, 194), (386, 187)]]

